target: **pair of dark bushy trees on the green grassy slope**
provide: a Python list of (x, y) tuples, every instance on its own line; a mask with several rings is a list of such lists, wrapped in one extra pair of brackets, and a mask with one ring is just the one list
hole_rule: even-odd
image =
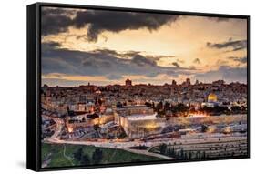
[(100, 148), (96, 148), (90, 157), (87, 153), (84, 153), (83, 148), (78, 148), (73, 156), (79, 165), (99, 164), (103, 159), (103, 151)]

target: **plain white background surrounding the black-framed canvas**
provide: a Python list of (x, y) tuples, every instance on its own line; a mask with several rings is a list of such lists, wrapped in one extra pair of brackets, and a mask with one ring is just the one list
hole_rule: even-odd
[[(33, 173), (26, 169), (26, 5), (34, 0), (1, 1), (0, 5), (0, 173)], [(48, 2), (50, 2), (48, 0)], [(251, 15), (251, 159), (162, 164), (61, 173), (253, 173), (256, 164), (254, 59), (256, 10), (253, 0), (55, 0), (55, 3), (108, 5), (205, 13)], [(254, 108), (253, 108), (254, 107)], [(251, 171), (251, 172), (250, 172)], [(60, 172), (48, 172), (60, 173)]]

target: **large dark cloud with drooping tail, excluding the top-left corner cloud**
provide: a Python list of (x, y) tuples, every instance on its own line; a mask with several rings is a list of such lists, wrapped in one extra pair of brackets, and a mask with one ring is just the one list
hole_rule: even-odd
[(114, 12), (87, 10), (77, 12), (74, 25), (77, 28), (88, 26), (87, 38), (97, 41), (97, 36), (104, 31), (118, 33), (122, 30), (135, 30), (147, 28), (149, 31), (157, 30), (160, 26), (172, 23), (179, 15), (159, 15), (147, 13)]

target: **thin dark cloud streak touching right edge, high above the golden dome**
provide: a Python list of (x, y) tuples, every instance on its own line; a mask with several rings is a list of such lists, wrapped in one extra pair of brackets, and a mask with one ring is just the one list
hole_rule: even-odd
[(247, 40), (228, 40), (222, 43), (210, 43), (208, 42), (206, 46), (216, 49), (231, 49), (231, 51), (238, 51), (245, 49), (247, 47)]

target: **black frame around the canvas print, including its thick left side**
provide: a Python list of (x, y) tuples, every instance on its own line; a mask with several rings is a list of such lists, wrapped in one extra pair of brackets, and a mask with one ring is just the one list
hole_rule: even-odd
[[(92, 166), (76, 166), (76, 167), (56, 167), (41, 168), (41, 119), (40, 119), (40, 88), (41, 88), (41, 7), (62, 7), (62, 8), (86, 8), (94, 10), (110, 10), (110, 11), (128, 11), (128, 12), (147, 12), (154, 14), (171, 14), (171, 15), (196, 15), (196, 16), (212, 16), (241, 18), (247, 20), (247, 86), (248, 86), (248, 118), (247, 118), (247, 145), (248, 155), (239, 157), (225, 157), (214, 159), (189, 159), (189, 160), (160, 160), (150, 162), (129, 162), (120, 164), (92, 165)], [(226, 14), (210, 14), (197, 12), (178, 12), (168, 10), (152, 10), (138, 8), (123, 8), (110, 6), (94, 6), (94, 5), (66, 5), (52, 3), (36, 3), (27, 5), (27, 118), (26, 118), (26, 168), (35, 171), (48, 171), (60, 169), (90, 169), (105, 167), (124, 167), (134, 165), (177, 163), (191, 161), (208, 161), (220, 159), (248, 159), (250, 158), (250, 16), (249, 15), (226, 15)]]

